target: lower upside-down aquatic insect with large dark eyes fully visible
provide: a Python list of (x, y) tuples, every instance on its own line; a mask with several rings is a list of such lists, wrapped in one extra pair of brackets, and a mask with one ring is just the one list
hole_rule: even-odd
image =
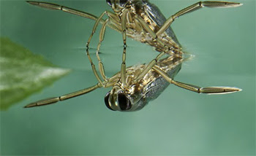
[(135, 78), (145, 70), (146, 64), (131, 66), (126, 69), (126, 86), (123, 86), (121, 83), (121, 73), (118, 72), (105, 83), (105, 86), (97, 83), (97, 85), (92, 87), (55, 98), (47, 98), (31, 103), (25, 107), (53, 104), (58, 101), (64, 101), (78, 95), (89, 93), (99, 87), (112, 87), (112, 90), (105, 95), (105, 104), (108, 109), (121, 112), (131, 112), (142, 109), (149, 101), (157, 98), (170, 84), (177, 85), (178, 87), (187, 90), (192, 90), (196, 93), (219, 94), (240, 91), (240, 89), (236, 87), (197, 87), (195, 85), (175, 81), (173, 77), (178, 74), (183, 61), (184, 58), (181, 55), (169, 55), (158, 61), (157, 64), (138, 82), (135, 82)]

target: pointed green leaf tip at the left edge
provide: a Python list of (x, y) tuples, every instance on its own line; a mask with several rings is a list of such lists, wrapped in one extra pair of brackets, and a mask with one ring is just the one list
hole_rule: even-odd
[(12, 104), (42, 90), (70, 71), (54, 66), (41, 55), (33, 54), (10, 39), (0, 40), (1, 110), (7, 110)]

